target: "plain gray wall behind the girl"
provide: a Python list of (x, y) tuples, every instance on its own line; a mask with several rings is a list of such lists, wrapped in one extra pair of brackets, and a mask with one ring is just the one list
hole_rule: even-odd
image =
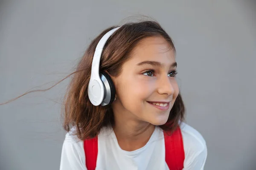
[[(104, 28), (148, 15), (175, 42), (186, 122), (207, 142), (205, 170), (255, 170), (255, 7), (247, 0), (1, 1), (0, 103), (53, 85)], [(68, 81), (0, 106), (0, 170), (59, 169), (58, 102)]]

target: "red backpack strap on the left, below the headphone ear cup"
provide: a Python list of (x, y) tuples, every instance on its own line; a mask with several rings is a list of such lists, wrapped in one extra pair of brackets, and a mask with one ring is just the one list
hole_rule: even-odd
[(98, 137), (84, 140), (85, 164), (87, 170), (95, 170), (98, 156)]

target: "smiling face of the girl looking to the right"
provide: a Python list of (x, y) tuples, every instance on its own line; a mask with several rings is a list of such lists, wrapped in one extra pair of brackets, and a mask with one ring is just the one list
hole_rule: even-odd
[(175, 79), (175, 53), (163, 37), (140, 41), (122, 72), (113, 77), (116, 87), (114, 114), (125, 119), (163, 125), (179, 94)]

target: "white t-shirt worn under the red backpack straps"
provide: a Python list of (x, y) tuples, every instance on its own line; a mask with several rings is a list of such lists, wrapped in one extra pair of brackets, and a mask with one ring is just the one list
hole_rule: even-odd
[[(204, 138), (185, 123), (180, 129), (185, 152), (183, 170), (204, 170), (207, 158)], [(83, 141), (70, 133), (66, 134), (63, 143), (60, 170), (87, 170)], [(129, 152), (119, 147), (113, 129), (104, 127), (98, 136), (96, 170), (169, 170), (163, 130), (156, 127), (144, 147)]]

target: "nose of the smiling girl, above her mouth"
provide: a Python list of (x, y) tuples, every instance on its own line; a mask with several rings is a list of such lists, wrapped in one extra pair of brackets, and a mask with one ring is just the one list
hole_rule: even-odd
[(164, 76), (161, 77), (158, 81), (157, 91), (159, 94), (166, 94), (167, 96), (171, 96), (174, 94), (174, 88), (172, 85), (172, 79), (170, 77)]

